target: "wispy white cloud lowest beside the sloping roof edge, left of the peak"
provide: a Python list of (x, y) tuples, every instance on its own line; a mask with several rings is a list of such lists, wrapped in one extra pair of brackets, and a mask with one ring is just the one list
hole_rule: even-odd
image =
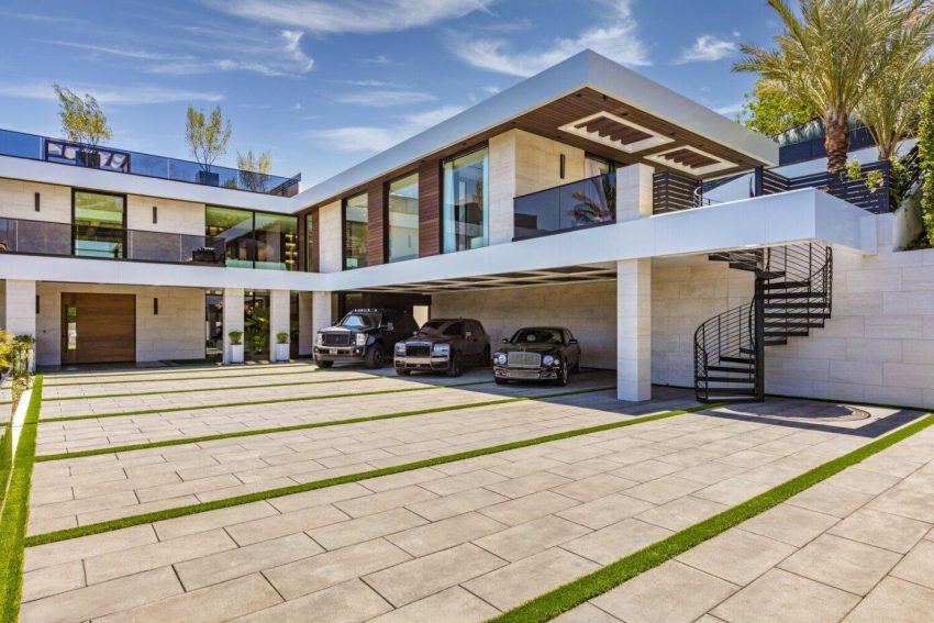
[(420, 113), (407, 114), (390, 127), (348, 126), (314, 132), (312, 138), (336, 152), (382, 152), (410, 136), (437, 125), (463, 111), (464, 107), (445, 105)]

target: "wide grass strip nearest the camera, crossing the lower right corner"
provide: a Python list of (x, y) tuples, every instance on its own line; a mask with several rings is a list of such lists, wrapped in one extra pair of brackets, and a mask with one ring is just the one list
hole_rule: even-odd
[(658, 567), (725, 532), (726, 530), (752, 519), (789, 498), (810, 489), (831, 476), (852, 467), (924, 429), (934, 425), (934, 414), (898, 429), (865, 446), (830, 460), (804, 474), (788, 480), (768, 491), (749, 498), (731, 509), (718, 513), (702, 522), (677, 532), (638, 552), (620, 558), (591, 574), (580, 577), (554, 590), (532, 599), (522, 605), (509, 610), (489, 620), (489, 623), (535, 623), (548, 621), (581, 603), (593, 599), (640, 574)]

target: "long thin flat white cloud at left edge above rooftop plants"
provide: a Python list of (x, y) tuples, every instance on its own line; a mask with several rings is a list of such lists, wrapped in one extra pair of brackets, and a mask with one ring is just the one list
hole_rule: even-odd
[[(193, 91), (171, 89), (148, 85), (104, 86), (68, 85), (76, 93), (91, 93), (102, 104), (142, 105), (170, 102), (219, 102), (222, 93), (213, 91)], [(26, 82), (16, 85), (0, 84), (0, 96), (33, 100), (57, 100), (52, 82)]]

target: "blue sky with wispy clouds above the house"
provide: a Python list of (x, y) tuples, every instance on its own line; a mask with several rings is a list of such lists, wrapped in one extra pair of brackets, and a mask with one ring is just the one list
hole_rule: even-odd
[(736, 44), (776, 29), (759, 0), (4, 0), (0, 127), (60, 135), (58, 81), (111, 145), (188, 158), (186, 107), (220, 103), (218, 164), (316, 182), (585, 47), (732, 118)]

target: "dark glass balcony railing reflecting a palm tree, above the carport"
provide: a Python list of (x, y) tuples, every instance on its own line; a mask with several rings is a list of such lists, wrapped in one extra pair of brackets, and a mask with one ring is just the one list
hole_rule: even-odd
[(513, 200), (513, 240), (614, 223), (616, 174), (548, 188)]

